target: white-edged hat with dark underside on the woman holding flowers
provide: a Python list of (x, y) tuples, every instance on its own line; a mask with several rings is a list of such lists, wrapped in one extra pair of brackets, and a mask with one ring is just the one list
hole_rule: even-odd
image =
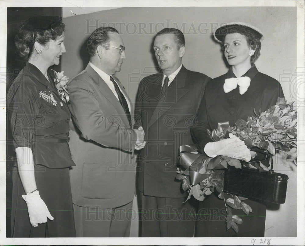
[(244, 27), (253, 32), (260, 40), (263, 40), (263, 34), (260, 29), (252, 26), (251, 24), (244, 22), (230, 22), (227, 24), (223, 24), (216, 28), (213, 32), (213, 36), (217, 42), (222, 43), (224, 41), (225, 36), (228, 34), (228, 30), (232, 27)]

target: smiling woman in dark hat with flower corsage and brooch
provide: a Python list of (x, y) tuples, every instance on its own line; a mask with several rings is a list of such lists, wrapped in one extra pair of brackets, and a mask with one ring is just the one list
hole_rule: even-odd
[(55, 85), (48, 73), (66, 52), (64, 28), (59, 16), (34, 16), (22, 23), (15, 37), (25, 66), (7, 95), (17, 157), (12, 237), (75, 237), (68, 98), (65, 81)]

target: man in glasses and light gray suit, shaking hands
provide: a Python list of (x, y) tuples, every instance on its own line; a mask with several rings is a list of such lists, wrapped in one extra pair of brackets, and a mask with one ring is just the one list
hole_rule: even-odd
[(100, 27), (87, 41), (90, 62), (69, 83), (76, 167), (71, 187), (77, 237), (129, 237), (135, 195), (134, 150), (144, 131), (133, 129), (130, 99), (120, 81), (124, 43), (116, 29)]

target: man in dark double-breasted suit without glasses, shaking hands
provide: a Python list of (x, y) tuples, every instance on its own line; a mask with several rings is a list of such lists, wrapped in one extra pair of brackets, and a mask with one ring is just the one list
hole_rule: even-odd
[(162, 73), (140, 82), (135, 108), (136, 125), (148, 141), (138, 162), (142, 237), (192, 237), (196, 208), (183, 203), (181, 182), (175, 180), (178, 148), (193, 143), (190, 127), (210, 78), (182, 65), (181, 31), (161, 30), (153, 49)]

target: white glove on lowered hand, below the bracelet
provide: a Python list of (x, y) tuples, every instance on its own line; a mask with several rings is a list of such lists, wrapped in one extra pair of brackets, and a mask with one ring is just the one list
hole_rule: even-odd
[(45, 202), (40, 198), (38, 190), (29, 195), (22, 195), (22, 198), (27, 202), (27, 209), (32, 226), (37, 227), (38, 224), (47, 222), (47, 217), (51, 220), (54, 219)]

